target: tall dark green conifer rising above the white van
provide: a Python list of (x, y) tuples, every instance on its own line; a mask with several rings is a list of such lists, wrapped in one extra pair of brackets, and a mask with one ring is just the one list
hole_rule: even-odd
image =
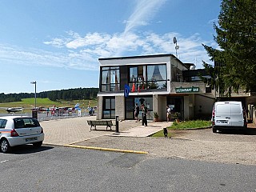
[[(203, 45), (212, 61), (220, 64), (218, 79), (224, 90), (256, 85), (256, 3), (254, 0), (222, 0), (214, 40), (221, 50)], [(217, 83), (215, 83), (217, 85)]]

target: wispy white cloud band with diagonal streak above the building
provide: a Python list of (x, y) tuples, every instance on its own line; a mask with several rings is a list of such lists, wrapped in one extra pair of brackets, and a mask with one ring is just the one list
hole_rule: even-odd
[[(58, 52), (32, 50), (0, 45), (0, 61), (20, 65), (65, 67), (78, 70), (98, 70), (98, 58), (143, 54), (175, 54), (173, 38), (178, 39), (178, 58), (182, 62), (208, 62), (209, 58), (202, 43), (216, 47), (216, 43), (204, 42), (200, 34), (184, 37), (176, 32), (155, 34), (138, 33), (138, 26), (145, 26), (166, 0), (140, 0), (130, 18), (125, 21), (122, 33), (88, 33), (80, 35), (66, 31), (64, 36), (43, 42), (58, 48)], [(61, 48), (61, 49), (60, 49)], [(35, 63), (36, 61), (36, 63)]]

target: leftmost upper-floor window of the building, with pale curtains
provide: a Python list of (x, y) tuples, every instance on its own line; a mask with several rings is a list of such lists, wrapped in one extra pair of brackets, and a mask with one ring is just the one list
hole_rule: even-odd
[(101, 91), (120, 90), (120, 74), (118, 66), (102, 67)]

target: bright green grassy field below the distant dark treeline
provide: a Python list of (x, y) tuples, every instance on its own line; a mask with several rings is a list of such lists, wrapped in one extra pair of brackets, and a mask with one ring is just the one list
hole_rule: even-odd
[[(74, 101), (58, 101), (58, 102), (53, 102), (50, 101), (49, 98), (37, 98), (37, 106), (42, 106), (42, 107), (52, 107), (52, 106), (68, 106), (68, 107), (74, 107), (76, 103), (80, 103), (80, 108), (87, 108), (89, 103), (90, 106), (97, 106), (97, 99), (90, 99), (90, 100), (74, 100)], [(4, 102), (0, 103), (0, 113), (6, 113), (6, 108), (8, 107), (24, 107), (24, 111), (28, 112), (32, 108), (34, 108), (34, 98), (23, 98), (22, 102)]]

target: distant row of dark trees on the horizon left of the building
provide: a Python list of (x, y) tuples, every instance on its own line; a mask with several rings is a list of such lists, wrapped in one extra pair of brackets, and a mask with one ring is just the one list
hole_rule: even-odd
[[(49, 90), (37, 94), (38, 98), (49, 98), (52, 101), (59, 99), (63, 100), (78, 100), (96, 98), (98, 88), (77, 88), (69, 90)], [(34, 98), (34, 94), (0, 94), (0, 102), (21, 102), (22, 98)]]

